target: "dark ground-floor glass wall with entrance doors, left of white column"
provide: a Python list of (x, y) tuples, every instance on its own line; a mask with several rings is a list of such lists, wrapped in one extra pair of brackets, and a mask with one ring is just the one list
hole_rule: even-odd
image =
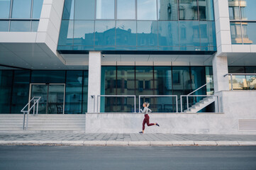
[(87, 112), (88, 71), (0, 70), (0, 113), (21, 113), (41, 96), (38, 113)]

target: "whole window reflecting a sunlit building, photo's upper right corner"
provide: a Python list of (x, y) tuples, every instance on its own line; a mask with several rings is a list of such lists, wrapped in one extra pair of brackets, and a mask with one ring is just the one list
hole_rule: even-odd
[(232, 44), (256, 44), (255, 0), (228, 0)]

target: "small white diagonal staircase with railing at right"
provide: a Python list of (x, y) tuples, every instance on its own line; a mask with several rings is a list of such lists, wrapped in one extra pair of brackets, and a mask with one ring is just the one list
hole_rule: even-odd
[(185, 113), (197, 113), (198, 111), (201, 111), (201, 109), (205, 108), (206, 106), (210, 105), (216, 101), (216, 98), (213, 96), (208, 96), (206, 98), (203, 98), (201, 101), (197, 102), (193, 106), (191, 106), (189, 109), (185, 110)]

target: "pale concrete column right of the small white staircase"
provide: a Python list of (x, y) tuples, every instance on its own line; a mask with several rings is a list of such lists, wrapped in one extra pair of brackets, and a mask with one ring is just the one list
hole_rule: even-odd
[(228, 74), (228, 58), (215, 55), (213, 57), (214, 93), (229, 90), (228, 76), (224, 77), (225, 74)]

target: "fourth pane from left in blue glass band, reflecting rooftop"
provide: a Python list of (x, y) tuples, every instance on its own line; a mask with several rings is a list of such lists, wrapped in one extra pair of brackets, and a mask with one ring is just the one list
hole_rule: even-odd
[(136, 21), (116, 21), (116, 45), (136, 46)]

